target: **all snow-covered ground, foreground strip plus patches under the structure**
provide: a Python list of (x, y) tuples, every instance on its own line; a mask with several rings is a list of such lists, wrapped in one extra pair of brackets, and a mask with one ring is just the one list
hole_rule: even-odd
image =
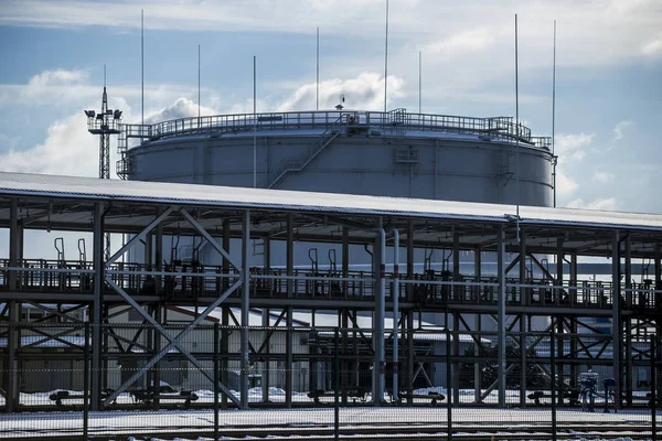
[[(448, 391), (445, 388), (425, 388), (415, 390), (415, 395), (426, 396), (430, 391), (448, 397)], [(21, 404), (32, 406), (34, 411), (24, 411), (20, 413), (0, 413), (0, 439), (20, 439), (24, 437), (33, 437), (35, 434), (44, 437), (82, 434), (83, 431), (83, 412), (82, 399), (71, 400), (66, 404), (70, 409), (75, 405), (77, 410), (72, 411), (40, 411), (41, 406), (52, 406), (50, 395), (54, 391), (42, 394), (21, 394)], [(82, 394), (81, 391), (71, 391), (72, 394)], [(209, 404), (210, 407), (214, 401), (214, 394), (210, 390), (196, 390), (199, 396), (196, 404)], [(237, 398), (239, 394), (233, 391)], [(527, 392), (528, 394), (528, 392)], [(453, 428), (461, 430), (480, 428), (485, 426), (496, 426), (508, 428), (509, 430), (531, 429), (536, 426), (547, 426), (551, 421), (551, 409), (541, 407), (517, 408), (519, 391), (508, 391), (506, 400), (510, 408), (498, 409), (493, 407), (455, 407), (452, 409)], [(366, 400), (371, 397), (367, 395)], [(269, 401), (277, 404), (285, 401), (285, 391), (278, 388), (269, 388)], [(250, 410), (225, 410), (218, 416), (220, 424), (223, 430), (233, 431), (236, 435), (241, 428), (260, 428), (260, 427), (282, 427), (288, 430), (292, 427), (329, 427), (334, 421), (334, 410), (331, 406), (333, 397), (321, 398), (322, 405), (318, 408), (297, 408), (297, 409), (250, 409)], [(391, 401), (391, 397), (385, 396), (385, 401)], [(473, 402), (474, 391), (472, 389), (460, 390), (460, 401), (463, 404)], [(261, 402), (261, 388), (249, 389), (249, 402)], [(312, 404), (307, 392), (293, 394), (295, 402)], [(498, 395), (492, 391), (487, 402), (496, 402)], [(340, 422), (343, 427), (359, 424), (393, 424), (393, 427), (405, 426), (425, 426), (439, 428), (444, 430), (447, 421), (446, 401), (438, 402), (437, 406), (429, 406), (429, 398), (417, 398), (417, 404), (426, 404), (421, 407), (406, 406), (386, 406), (372, 407), (369, 404), (357, 401), (356, 406), (350, 406), (340, 409)], [(117, 402), (119, 405), (132, 404), (134, 398), (130, 394), (121, 394)], [(181, 400), (162, 399), (162, 404), (182, 405)], [(531, 400), (527, 400), (531, 402)], [(579, 408), (559, 408), (557, 411), (558, 424), (566, 424), (576, 428), (578, 439), (586, 433), (581, 433), (581, 427), (585, 423), (601, 423), (607, 426), (637, 426), (650, 427), (651, 413), (648, 409), (641, 410), (620, 410), (618, 413), (613, 411), (609, 413), (602, 412), (604, 402), (600, 399), (596, 400), (596, 412), (583, 412)], [(211, 409), (203, 410), (183, 410), (183, 409), (164, 409), (159, 411), (145, 410), (136, 408), (132, 410), (106, 410), (102, 412), (89, 412), (88, 428), (90, 434), (118, 434), (124, 437), (128, 434), (138, 438), (149, 435), (158, 435), (173, 431), (203, 432), (211, 430), (214, 423), (214, 413)], [(662, 427), (662, 418), (658, 417), (658, 424)], [(278, 429), (275, 429), (278, 432)], [(425, 438), (421, 435), (421, 439)], [(615, 437), (616, 438), (616, 437)]]

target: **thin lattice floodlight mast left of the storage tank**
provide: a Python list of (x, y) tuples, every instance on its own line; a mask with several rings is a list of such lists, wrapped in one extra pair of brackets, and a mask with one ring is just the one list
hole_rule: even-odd
[[(99, 178), (110, 179), (110, 135), (121, 131), (121, 110), (108, 108), (108, 94), (106, 93), (106, 68), (104, 67), (104, 95), (102, 96), (102, 110), (85, 110), (87, 116), (87, 130), (99, 136)], [(110, 257), (110, 235), (106, 234), (105, 256)]]

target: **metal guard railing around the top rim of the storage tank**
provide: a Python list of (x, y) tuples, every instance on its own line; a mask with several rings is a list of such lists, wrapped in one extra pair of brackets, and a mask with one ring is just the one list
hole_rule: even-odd
[(328, 130), (338, 120), (349, 126), (363, 126), (382, 135), (404, 135), (406, 131), (473, 133), (485, 140), (520, 142), (547, 148), (546, 138), (531, 137), (531, 129), (515, 123), (511, 117), (474, 118), (450, 115), (407, 114), (392, 111), (320, 110), (265, 114), (235, 114), (180, 118), (154, 125), (124, 125), (126, 151), (128, 138), (158, 140), (178, 136), (239, 133), (252, 130)]

